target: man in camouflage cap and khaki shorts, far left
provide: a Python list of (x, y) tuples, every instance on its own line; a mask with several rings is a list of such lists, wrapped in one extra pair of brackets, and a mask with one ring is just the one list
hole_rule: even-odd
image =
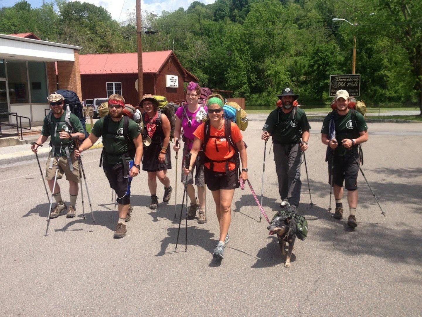
[(61, 179), (63, 174), (69, 181), (70, 205), (67, 208), (63, 202), (60, 186), (56, 183), (53, 197), (56, 200), (56, 206), (51, 211), (50, 218), (57, 218), (59, 214), (68, 209), (67, 218), (76, 216), (76, 198), (78, 197), (79, 168), (78, 160), (73, 155), (74, 144), (72, 138), (77, 137), (82, 140), (85, 137), (84, 128), (76, 115), (63, 109), (65, 98), (58, 93), (52, 93), (47, 97), (50, 105), (50, 112), (43, 120), (41, 135), (37, 142), (33, 143), (31, 150), (37, 153), (37, 148), (41, 146), (48, 137), (50, 137), (50, 146), (52, 150), (46, 165), (46, 180), (50, 191), (54, 187), (54, 177), (57, 173), (57, 179)]

